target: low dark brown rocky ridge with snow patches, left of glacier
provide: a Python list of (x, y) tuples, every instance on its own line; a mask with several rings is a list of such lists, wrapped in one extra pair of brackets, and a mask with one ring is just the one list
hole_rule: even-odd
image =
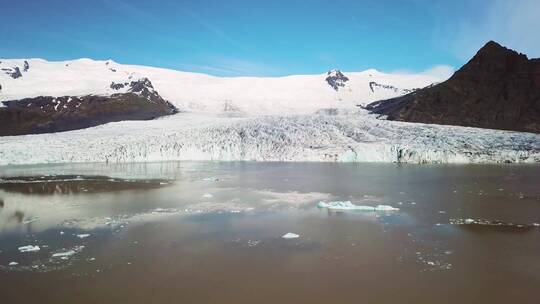
[(110, 96), (38, 96), (3, 102), (0, 136), (82, 129), (121, 120), (148, 120), (174, 114), (146, 78)]

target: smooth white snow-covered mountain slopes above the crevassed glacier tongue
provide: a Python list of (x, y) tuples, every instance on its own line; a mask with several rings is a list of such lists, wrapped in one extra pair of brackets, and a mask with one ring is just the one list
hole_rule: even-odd
[(0, 59), (0, 101), (36, 96), (110, 95), (118, 84), (148, 78), (181, 111), (235, 114), (310, 114), (400, 96), (440, 82), (425, 74), (374, 69), (286, 77), (214, 77), (112, 60)]

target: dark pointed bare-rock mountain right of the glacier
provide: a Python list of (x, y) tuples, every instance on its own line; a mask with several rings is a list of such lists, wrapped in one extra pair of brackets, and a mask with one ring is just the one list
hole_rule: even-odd
[(450, 79), (367, 109), (391, 120), (540, 132), (540, 59), (490, 41)]

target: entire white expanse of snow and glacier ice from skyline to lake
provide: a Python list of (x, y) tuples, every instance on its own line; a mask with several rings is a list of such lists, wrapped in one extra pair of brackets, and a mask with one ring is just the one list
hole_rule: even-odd
[[(0, 165), (172, 160), (540, 162), (537, 134), (393, 122), (358, 107), (444, 80), (424, 74), (367, 70), (213, 77), (90, 59), (1, 59), (0, 68), (0, 101), (108, 95), (117, 92), (110, 87), (113, 82), (148, 77), (156, 91), (182, 111), (152, 121), (0, 137)], [(337, 85), (330, 85), (329, 76), (337, 77)]]

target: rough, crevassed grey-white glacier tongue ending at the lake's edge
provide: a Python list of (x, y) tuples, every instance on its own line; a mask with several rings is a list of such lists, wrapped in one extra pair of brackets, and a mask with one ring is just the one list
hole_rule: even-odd
[(172, 160), (540, 162), (540, 135), (377, 119), (363, 112), (226, 118), (179, 113), (0, 138), (0, 165)]

